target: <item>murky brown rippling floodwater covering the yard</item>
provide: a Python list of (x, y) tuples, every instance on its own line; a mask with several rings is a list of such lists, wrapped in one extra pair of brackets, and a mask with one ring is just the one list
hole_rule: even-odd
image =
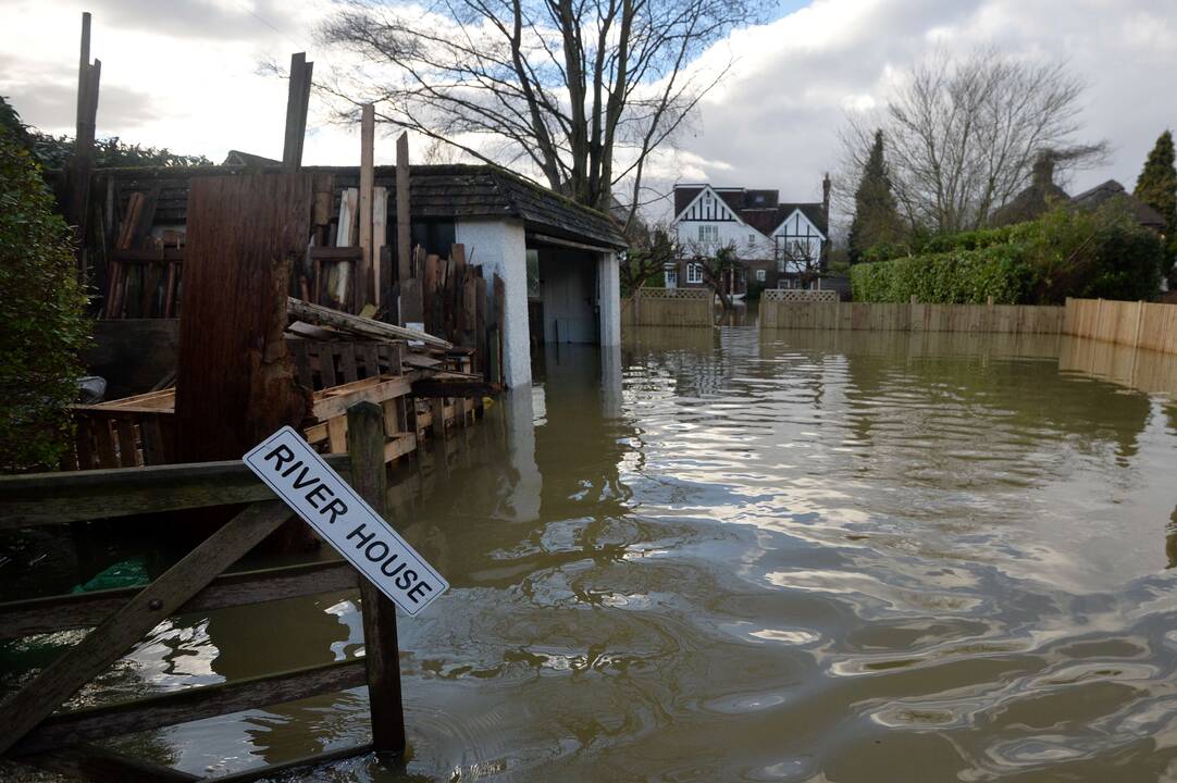
[[(395, 477), (452, 584), (400, 622), (406, 763), (298, 779), (1177, 779), (1177, 359), (749, 325), (538, 365)], [(126, 553), (38, 546), (7, 585)], [(104, 685), (363, 653), (355, 600), (180, 618)], [(366, 739), (357, 690), (122, 744), (221, 774)]]

